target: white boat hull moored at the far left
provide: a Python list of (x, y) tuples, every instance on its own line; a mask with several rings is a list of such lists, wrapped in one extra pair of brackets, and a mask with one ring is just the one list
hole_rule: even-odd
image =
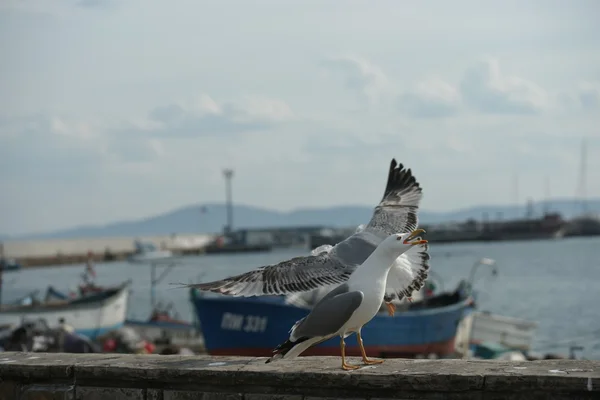
[(76, 299), (52, 300), (28, 305), (1, 305), (0, 326), (18, 326), (23, 320), (43, 319), (56, 326), (61, 319), (78, 334), (90, 339), (123, 326), (127, 315), (129, 282), (116, 288)]

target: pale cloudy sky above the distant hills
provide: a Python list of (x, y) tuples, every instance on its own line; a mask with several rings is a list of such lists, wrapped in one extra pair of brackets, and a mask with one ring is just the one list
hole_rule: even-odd
[[(0, 2), (0, 233), (600, 196), (595, 0)], [(579, 188), (582, 142), (585, 191)]]

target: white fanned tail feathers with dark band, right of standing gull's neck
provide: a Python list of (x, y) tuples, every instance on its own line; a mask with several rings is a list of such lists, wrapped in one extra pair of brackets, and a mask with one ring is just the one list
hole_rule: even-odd
[(421, 290), (429, 273), (427, 250), (427, 244), (413, 246), (396, 259), (388, 274), (386, 302), (411, 297), (413, 292)]

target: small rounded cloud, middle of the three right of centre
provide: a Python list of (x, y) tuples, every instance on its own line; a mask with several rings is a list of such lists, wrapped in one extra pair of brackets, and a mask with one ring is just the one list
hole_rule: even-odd
[(401, 94), (398, 107), (415, 118), (441, 118), (455, 115), (461, 105), (461, 94), (452, 85), (433, 78), (417, 84), (412, 91)]

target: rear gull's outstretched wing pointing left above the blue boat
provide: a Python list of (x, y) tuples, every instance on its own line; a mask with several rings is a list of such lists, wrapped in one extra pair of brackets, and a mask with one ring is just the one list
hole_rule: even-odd
[(295, 257), (222, 280), (184, 285), (230, 296), (282, 295), (345, 282), (353, 269), (327, 251)]

